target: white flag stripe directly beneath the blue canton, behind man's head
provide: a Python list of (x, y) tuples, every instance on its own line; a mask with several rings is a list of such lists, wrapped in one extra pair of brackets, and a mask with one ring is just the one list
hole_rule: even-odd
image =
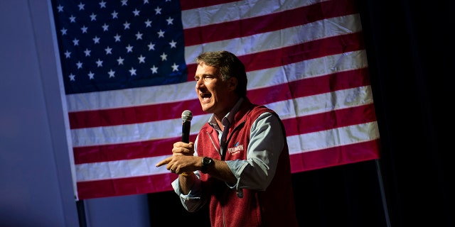
[[(366, 59), (365, 50), (360, 50), (296, 62), (284, 67), (248, 72), (247, 89), (258, 89), (298, 79), (365, 68), (368, 67)], [(195, 85), (195, 82), (191, 81), (155, 87), (69, 94), (66, 99), (70, 112), (146, 106), (197, 99)]]

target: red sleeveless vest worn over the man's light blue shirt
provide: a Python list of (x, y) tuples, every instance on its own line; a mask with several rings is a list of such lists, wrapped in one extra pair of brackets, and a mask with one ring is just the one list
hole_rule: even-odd
[[(265, 106), (251, 104), (248, 99), (243, 101), (230, 124), (224, 160), (247, 159), (250, 128), (255, 119), (266, 111), (275, 114)], [(282, 128), (284, 131), (284, 126)], [(201, 128), (198, 155), (221, 160), (220, 154), (210, 143), (213, 130), (208, 123)], [(239, 198), (235, 189), (227, 187), (225, 182), (200, 173), (204, 196), (210, 196), (211, 226), (298, 226), (285, 133), (284, 142), (274, 178), (265, 191), (243, 189), (243, 197)]]

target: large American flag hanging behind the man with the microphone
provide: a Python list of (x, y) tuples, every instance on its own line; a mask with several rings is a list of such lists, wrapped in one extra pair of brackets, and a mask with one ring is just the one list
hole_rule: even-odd
[(380, 157), (360, 16), (353, 0), (52, 0), (77, 199), (171, 190), (155, 167), (210, 114), (196, 56), (245, 63), (247, 96), (282, 118), (292, 172)]

